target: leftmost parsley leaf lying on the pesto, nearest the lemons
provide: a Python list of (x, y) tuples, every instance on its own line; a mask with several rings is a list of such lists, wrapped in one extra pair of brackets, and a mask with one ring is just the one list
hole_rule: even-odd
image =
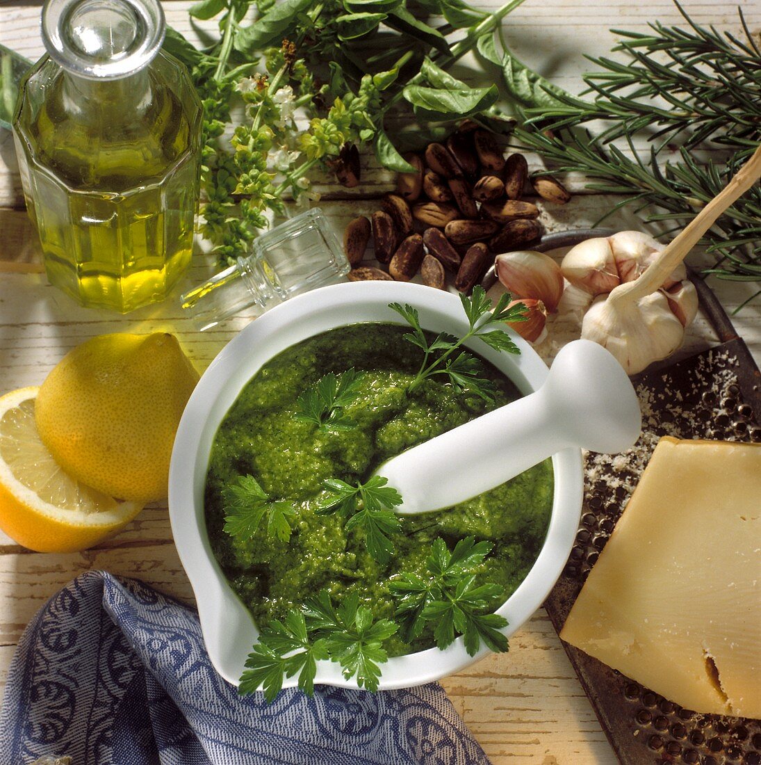
[(287, 516), (296, 513), (294, 503), (287, 500), (273, 502), (255, 477), (239, 476), (222, 491), (225, 509), (223, 531), (238, 539), (249, 539), (259, 528), (267, 514), (267, 534), (281, 542), (291, 539), (291, 525)]

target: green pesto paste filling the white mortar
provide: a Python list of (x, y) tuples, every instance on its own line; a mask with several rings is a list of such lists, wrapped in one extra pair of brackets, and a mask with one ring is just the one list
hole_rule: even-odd
[[(355, 324), (297, 343), (249, 380), (220, 425), (207, 475), (207, 529), (216, 559), (260, 625), (285, 617), (294, 604), (322, 588), (334, 601), (356, 591), (376, 618), (393, 618), (389, 579), (400, 571), (422, 574), (439, 536), (450, 549), (468, 535), (492, 542), (478, 579), (500, 584), (505, 597), (538, 555), (552, 506), (549, 460), (453, 508), (400, 516), (402, 532), (392, 535), (395, 555), (385, 566), (368, 555), (361, 530), (347, 533), (339, 516), (318, 516), (311, 508), (325, 479), (366, 480), (389, 457), (519, 397), (486, 361), (484, 374), (498, 389), (493, 405), (458, 395), (436, 379), (408, 395), (421, 350), (402, 339), (406, 331), (395, 324)], [(296, 399), (307, 386), (352, 366), (366, 375), (361, 396), (345, 409), (356, 428), (320, 433), (294, 418)], [(299, 501), (288, 542), (269, 538), (265, 524), (247, 540), (223, 532), (223, 488), (246, 474), (269, 496)], [(398, 655), (431, 645), (431, 636), (424, 634), (412, 646), (394, 636), (388, 647)]]

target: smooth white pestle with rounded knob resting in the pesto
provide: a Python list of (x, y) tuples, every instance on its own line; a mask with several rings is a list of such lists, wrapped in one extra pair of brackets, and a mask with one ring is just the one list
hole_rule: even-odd
[(574, 340), (540, 389), (392, 457), (376, 474), (402, 494), (397, 513), (430, 513), (493, 489), (561, 449), (623, 451), (641, 427), (620, 363), (597, 343)]

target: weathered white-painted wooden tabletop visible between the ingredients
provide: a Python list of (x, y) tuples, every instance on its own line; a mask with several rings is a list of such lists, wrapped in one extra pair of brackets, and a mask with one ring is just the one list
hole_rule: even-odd
[[(167, 2), (167, 18), (192, 36), (186, 0)], [(494, 0), (483, 5), (497, 5)], [(761, 7), (740, 3), (750, 28), (761, 27)], [(717, 24), (738, 34), (736, 5), (730, 0), (688, 2), (688, 11), (704, 24)], [(40, 8), (24, 0), (0, 3), (0, 42), (35, 60), (42, 51)], [(587, 68), (582, 54), (607, 54), (614, 37), (609, 28), (643, 30), (648, 21), (681, 21), (669, 0), (527, 0), (506, 19), (506, 37), (526, 63), (569, 90), (579, 90), (578, 75)], [(213, 22), (209, 24), (213, 27)], [(475, 66), (464, 62), (463, 67)], [(351, 217), (376, 209), (372, 197), (388, 190), (391, 177), (364, 160), (363, 185), (354, 192), (324, 184), (321, 207), (337, 230)], [(536, 160), (531, 164), (535, 164)], [(347, 200), (346, 197), (356, 197)], [(371, 197), (369, 199), (369, 197)], [(610, 200), (577, 195), (565, 207), (545, 210), (549, 230), (588, 227), (610, 205)], [(23, 198), (13, 145), (0, 130), (0, 260), (39, 262), (36, 235), (22, 209)], [(637, 221), (620, 215), (610, 224), (633, 228)], [(695, 261), (693, 261), (695, 263)], [(695, 263), (695, 265), (698, 265)], [(210, 259), (199, 255), (187, 288), (212, 272)], [(727, 311), (753, 293), (736, 282), (709, 282)], [(223, 330), (198, 334), (180, 316), (176, 298), (128, 317), (87, 311), (47, 285), (36, 273), (0, 275), (0, 394), (22, 386), (39, 385), (58, 360), (88, 337), (117, 331), (172, 331), (203, 370), (233, 337), (246, 318)], [(761, 362), (761, 304), (756, 301), (733, 318), (741, 337)], [(556, 327), (551, 340), (539, 349), (547, 358), (571, 337), (574, 327)], [(685, 352), (715, 343), (711, 328), (698, 317)], [(29, 552), (0, 533), (0, 685), (25, 625), (34, 612), (63, 584), (88, 569), (141, 578), (161, 591), (192, 601), (190, 585), (171, 539), (164, 506), (151, 506), (124, 532), (95, 549), (67, 555)], [(614, 763), (615, 757), (597, 718), (577, 681), (558, 636), (544, 610), (539, 610), (510, 641), (510, 652), (484, 659), (444, 681), (452, 702), (494, 763), (594, 765)]]

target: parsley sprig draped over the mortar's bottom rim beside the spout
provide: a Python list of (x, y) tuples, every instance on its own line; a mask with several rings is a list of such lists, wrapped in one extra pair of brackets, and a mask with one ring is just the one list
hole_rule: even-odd
[(388, 659), (383, 642), (397, 630), (389, 619), (373, 620), (372, 611), (359, 605), (356, 593), (335, 607), (327, 590), (322, 590), (301, 610), (291, 611), (284, 621), (275, 620), (259, 633), (239, 692), (262, 688), (265, 699), (272, 702), (283, 679), (298, 673), (298, 687), (311, 696), (320, 659), (340, 663), (347, 680), (356, 677), (359, 688), (377, 691), (379, 665)]

